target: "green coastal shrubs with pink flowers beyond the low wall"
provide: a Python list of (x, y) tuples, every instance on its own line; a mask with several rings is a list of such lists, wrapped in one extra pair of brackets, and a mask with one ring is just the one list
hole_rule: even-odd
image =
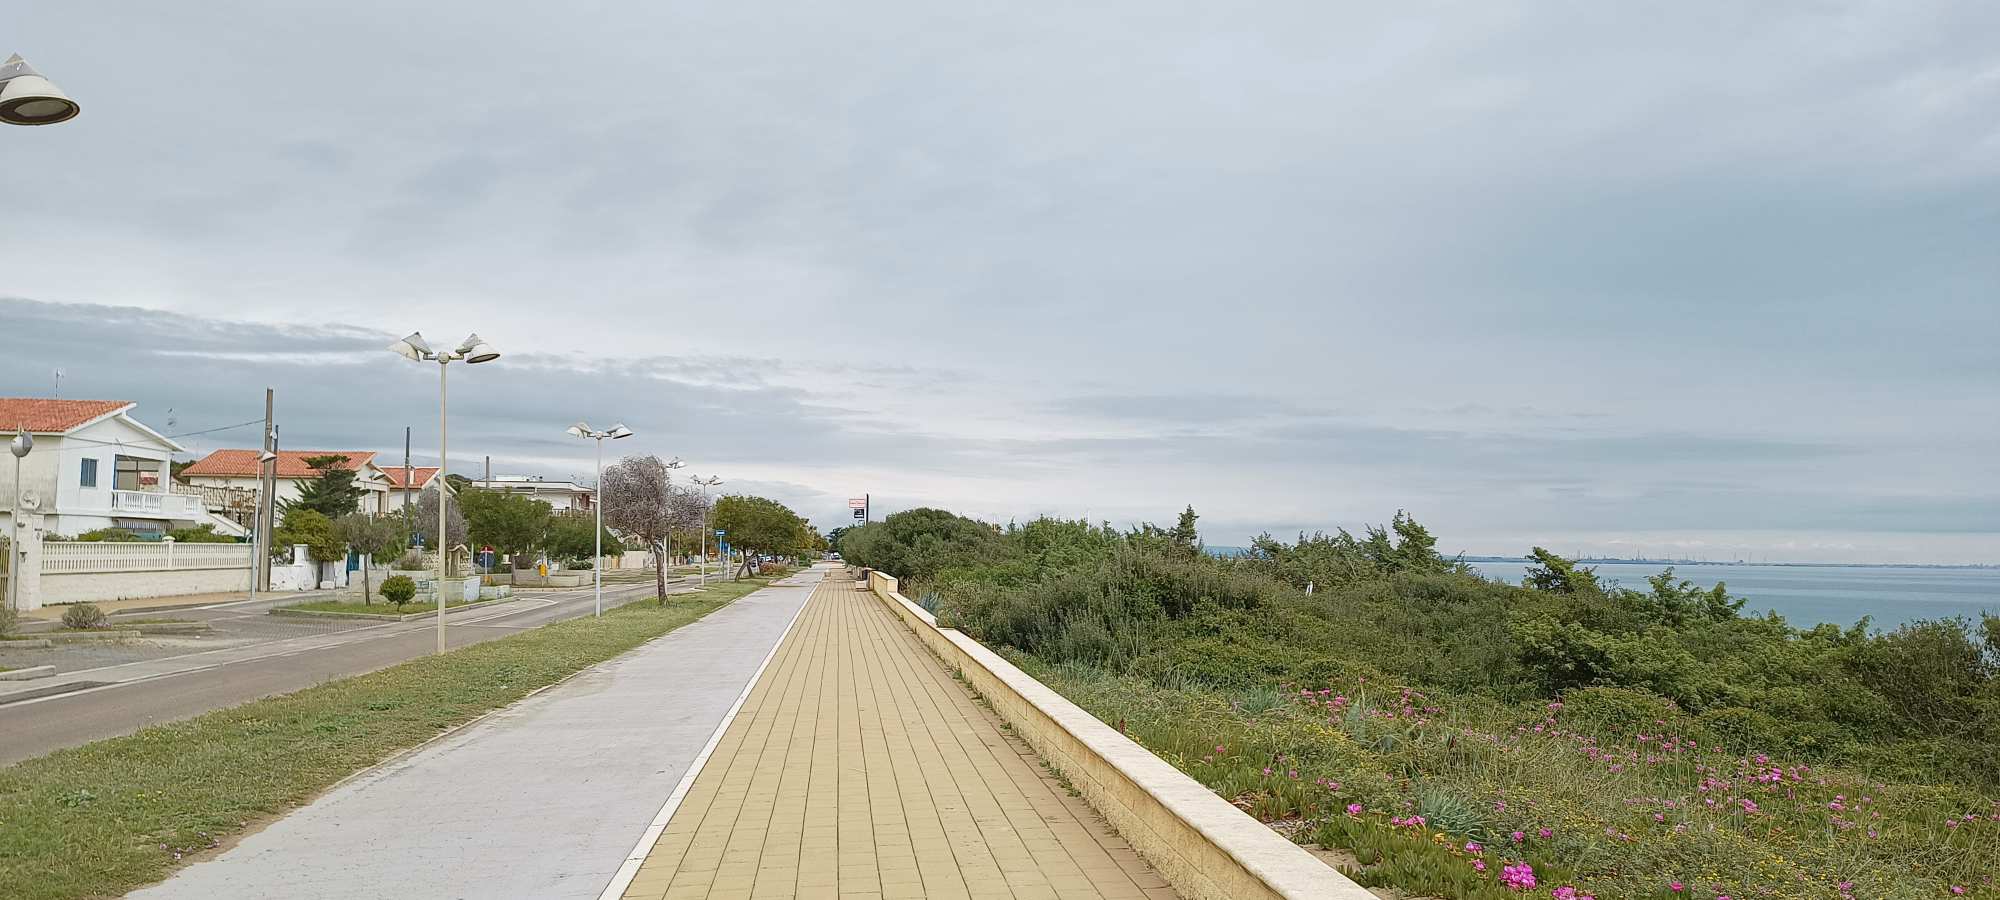
[(1542, 548), (1502, 584), (1400, 512), (1240, 558), (1194, 510), (910, 510), (838, 550), (1368, 886), (2000, 896), (1996, 616), (1802, 630)]

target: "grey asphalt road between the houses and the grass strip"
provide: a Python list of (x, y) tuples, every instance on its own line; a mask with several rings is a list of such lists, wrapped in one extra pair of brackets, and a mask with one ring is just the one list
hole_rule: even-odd
[[(668, 590), (674, 586), (676, 582), (668, 582)], [(640, 598), (652, 598), (650, 582), (606, 586), (604, 590), (606, 608)], [(446, 646), (504, 638), (590, 612), (590, 588), (522, 594), (516, 602), (496, 610), (446, 616)], [(176, 618), (194, 616), (176, 612)], [(332, 644), (288, 648), (272, 642), (270, 654), (258, 654), (258, 646), (250, 644), (222, 654), (188, 654), (146, 664), (68, 672), (62, 680), (110, 682), (68, 694), (40, 698), (0, 694), (0, 766), (92, 740), (116, 738), (152, 724), (288, 694), (332, 678), (374, 672), (438, 648), (434, 620), (346, 628), (326, 640)], [(162, 672), (160, 668), (178, 670)]]

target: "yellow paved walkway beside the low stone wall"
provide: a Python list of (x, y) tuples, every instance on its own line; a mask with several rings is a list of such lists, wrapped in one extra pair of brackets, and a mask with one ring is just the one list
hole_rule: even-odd
[(836, 578), (626, 898), (1174, 898), (880, 600)]

